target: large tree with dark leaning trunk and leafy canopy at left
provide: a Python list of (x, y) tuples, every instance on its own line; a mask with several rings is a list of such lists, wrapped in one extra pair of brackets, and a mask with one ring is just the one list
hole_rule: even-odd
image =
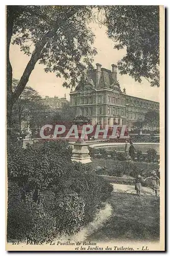
[[(87, 27), (92, 7), (88, 6), (7, 6), (7, 126), (11, 127), (13, 104), (25, 89), (39, 61), (45, 72), (55, 72), (75, 86), (96, 50), (94, 34)], [(12, 36), (14, 36), (12, 38)], [(12, 91), (10, 44), (17, 44), (30, 60)], [(10, 131), (10, 129), (8, 130)]]

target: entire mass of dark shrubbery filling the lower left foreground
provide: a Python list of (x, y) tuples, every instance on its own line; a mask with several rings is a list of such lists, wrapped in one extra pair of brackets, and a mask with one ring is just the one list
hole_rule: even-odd
[(9, 185), (8, 237), (19, 240), (50, 241), (78, 231), (112, 191), (90, 165), (71, 162), (65, 142), (9, 147), (8, 179), (19, 189)]

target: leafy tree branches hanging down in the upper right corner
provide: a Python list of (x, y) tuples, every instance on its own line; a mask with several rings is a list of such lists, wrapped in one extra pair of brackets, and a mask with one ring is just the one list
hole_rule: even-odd
[(117, 63), (120, 74), (138, 82), (144, 77), (159, 87), (159, 6), (102, 6), (97, 13), (99, 24), (106, 25), (108, 37), (116, 42), (114, 48), (127, 50)]

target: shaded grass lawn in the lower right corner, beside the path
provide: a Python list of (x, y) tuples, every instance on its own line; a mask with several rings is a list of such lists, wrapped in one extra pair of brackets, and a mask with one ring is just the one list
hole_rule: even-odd
[(159, 240), (159, 197), (113, 193), (108, 201), (113, 213), (87, 241)]

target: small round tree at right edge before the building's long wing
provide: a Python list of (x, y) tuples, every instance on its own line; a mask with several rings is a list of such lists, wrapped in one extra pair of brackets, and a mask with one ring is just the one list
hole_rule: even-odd
[(150, 110), (145, 114), (145, 122), (151, 127), (153, 132), (155, 127), (159, 127), (159, 112)]

